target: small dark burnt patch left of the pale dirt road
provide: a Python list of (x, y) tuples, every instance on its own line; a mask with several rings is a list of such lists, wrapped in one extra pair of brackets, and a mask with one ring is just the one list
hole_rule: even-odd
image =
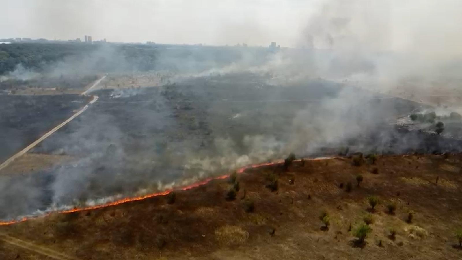
[(0, 95), (0, 161), (69, 118), (87, 99), (81, 95)]

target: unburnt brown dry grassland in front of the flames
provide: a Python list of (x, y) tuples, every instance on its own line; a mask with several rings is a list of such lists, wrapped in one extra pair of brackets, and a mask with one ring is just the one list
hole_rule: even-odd
[[(361, 166), (349, 158), (293, 162), (288, 171), (270, 166), (238, 175), (233, 201), (225, 200), (229, 180), (215, 180), (176, 191), (173, 204), (160, 196), (55, 213), (0, 232), (79, 259), (460, 259), (454, 232), (462, 226), (461, 163), (461, 154), (379, 156)], [(265, 187), (272, 174), (279, 183), (274, 192)], [(359, 187), (357, 174), (364, 177)], [(375, 210), (370, 195), (380, 198)], [(254, 202), (253, 212), (244, 211), (244, 197)], [(386, 212), (390, 202), (394, 214)], [(323, 210), (330, 216), (327, 230), (319, 220)], [(368, 212), (372, 231), (355, 246), (348, 229)], [(6, 242), (0, 248), (2, 259), (46, 259)]]

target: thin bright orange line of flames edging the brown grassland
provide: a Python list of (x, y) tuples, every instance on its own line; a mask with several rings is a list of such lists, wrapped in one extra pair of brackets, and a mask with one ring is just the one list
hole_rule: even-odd
[[(320, 160), (328, 160), (328, 159), (333, 159), (333, 158), (334, 157), (318, 157), (318, 158), (309, 158), (309, 159), (301, 159), (301, 160), (320, 161)], [(301, 160), (294, 160), (294, 161), (301, 161)], [(243, 173), (247, 169), (258, 168), (258, 167), (263, 167), (263, 166), (278, 165), (278, 164), (283, 164), (283, 163), (284, 163), (284, 161), (274, 161), (274, 162), (264, 162), (264, 163), (252, 164), (252, 165), (241, 167), (241, 168), (237, 169), (236, 172), (240, 174), (240, 173)], [(223, 180), (223, 179), (228, 178), (229, 176), (230, 176), (230, 174), (220, 175), (220, 176), (217, 176), (217, 177), (210, 177), (210, 178), (195, 182), (195, 183), (193, 183), (191, 185), (183, 186), (181, 188), (178, 188), (178, 190), (183, 190), (183, 191), (184, 190), (189, 190), (189, 189), (196, 188), (196, 187), (199, 187), (199, 186), (202, 186), (202, 185), (206, 185), (207, 183), (211, 182), (212, 180)], [(0, 221), (0, 226), (6, 226), (6, 225), (14, 224), (14, 223), (24, 222), (26, 220), (37, 218), (37, 217), (45, 217), (45, 216), (50, 215), (53, 212), (73, 213), (73, 212), (79, 212), (79, 211), (84, 211), (84, 210), (95, 210), (95, 209), (99, 209), (99, 208), (104, 208), (104, 207), (109, 207), (109, 206), (114, 206), (114, 205), (126, 203), (126, 202), (138, 201), (138, 200), (143, 200), (143, 199), (146, 199), (146, 198), (153, 198), (153, 197), (157, 197), (157, 196), (164, 196), (164, 195), (170, 194), (170, 192), (173, 192), (173, 191), (174, 191), (174, 189), (169, 189), (169, 190), (165, 190), (163, 192), (155, 192), (155, 193), (146, 194), (146, 195), (138, 196), (138, 197), (122, 198), (122, 199), (119, 199), (119, 200), (111, 201), (111, 202), (104, 203), (104, 204), (94, 205), (94, 206), (75, 207), (75, 208), (70, 209), (70, 210), (50, 211), (50, 212), (47, 212), (47, 213), (45, 213), (43, 215), (40, 215), (40, 216), (22, 217), (22, 218), (16, 219), (16, 220)]]

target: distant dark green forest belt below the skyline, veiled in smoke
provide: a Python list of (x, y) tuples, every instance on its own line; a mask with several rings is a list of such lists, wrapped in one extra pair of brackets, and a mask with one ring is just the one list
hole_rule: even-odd
[[(12, 43), (0, 44), (0, 75), (25, 69), (43, 72), (64, 62), (69, 68), (85, 67), (94, 72), (193, 70), (201, 71), (252, 57), (263, 62), (263, 48), (211, 47), (191, 45), (85, 44), (85, 43)], [(75, 66), (74, 66), (75, 65)], [(77, 69), (77, 68), (76, 68)]]

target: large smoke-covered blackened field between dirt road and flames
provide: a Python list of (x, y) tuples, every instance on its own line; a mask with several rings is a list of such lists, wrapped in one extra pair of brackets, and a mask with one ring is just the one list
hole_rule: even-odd
[[(280, 159), (289, 152), (321, 156), (345, 149), (349, 154), (461, 151), (458, 140), (393, 123), (422, 105), (358, 92), (353, 111), (347, 111), (342, 120), (362, 124), (361, 116), (365, 116), (369, 117), (367, 124), (350, 138), (340, 138), (340, 143), (318, 143), (315, 152), (308, 152), (303, 143), (311, 140), (300, 142), (294, 135), (297, 116), (309, 111), (316, 118), (316, 106), (335, 99), (345, 88), (325, 80), (279, 86), (268, 84), (268, 79), (229, 74), (132, 88), (118, 98), (112, 90), (94, 92), (99, 96), (96, 103), (31, 153), (60, 155), (61, 159), (30, 156), (43, 162), (43, 167), (23, 163), (33, 174), (14, 174), (11, 169), (12, 174), (2, 176), (0, 200), (6, 206), (0, 208), (0, 219), (33, 214), (52, 205), (132, 196), (143, 189), (163, 189), (162, 185), (172, 181), (227, 173), (242, 158), (247, 160), (240, 162), (245, 165)], [(358, 107), (366, 109), (357, 111)], [(307, 119), (299, 121), (316, 126)], [(286, 144), (293, 141), (302, 144), (301, 149), (288, 150)], [(67, 159), (71, 162), (47, 167), (46, 160)]]

